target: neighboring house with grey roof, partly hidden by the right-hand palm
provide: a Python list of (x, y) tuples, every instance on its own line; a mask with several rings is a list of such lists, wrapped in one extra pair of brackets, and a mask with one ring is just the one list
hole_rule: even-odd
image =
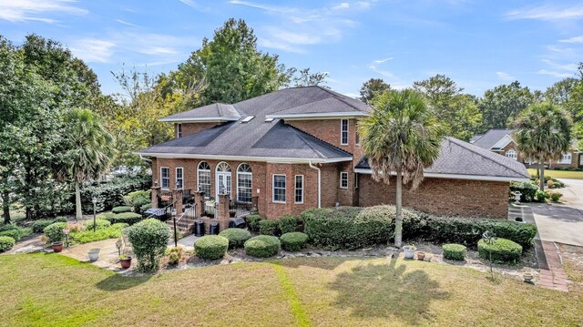
[[(470, 143), (476, 147), (486, 148), (486, 150), (496, 152), (507, 158), (515, 159), (528, 166), (527, 159), (522, 158), (518, 151), (518, 145), (514, 139), (514, 131), (514, 129), (488, 129), (486, 133), (476, 135), (470, 139)], [(578, 150), (570, 150), (564, 153), (559, 160), (550, 163), (551, 168), (578, 168), (581, 166), (583, 166), (583, 157), (581, 157), (581, 153)]]

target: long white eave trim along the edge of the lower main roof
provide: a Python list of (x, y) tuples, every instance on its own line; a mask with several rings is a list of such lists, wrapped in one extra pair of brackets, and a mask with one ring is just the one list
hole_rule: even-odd
[(221, 155), (196, 155), (188, 153), (155, 153), (155, 152), (133, 152), (133, 154), (145, 157), (155, 158), (197, 158), (210, 160), (234, 160), (234, 161), (260, 161), (274, 163), (331, 163), (352, 161), (353, 157), (343, 158), (277, 158), (277, 157), (246, 157), (246, 156), (221, 156)]

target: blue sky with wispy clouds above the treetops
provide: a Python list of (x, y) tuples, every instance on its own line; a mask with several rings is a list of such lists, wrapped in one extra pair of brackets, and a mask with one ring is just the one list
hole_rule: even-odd
[(106, 93), (119, 91), (110, 71), (168, 72), (230, 17), (262, 51), (328, 72), (353, 97), (371, 77), (401, 88), (435, 74), (478, 96), (515, 79), (544, 90), (583, 61), (581, 1), (0, 0), (0, 34), (60, 41)]

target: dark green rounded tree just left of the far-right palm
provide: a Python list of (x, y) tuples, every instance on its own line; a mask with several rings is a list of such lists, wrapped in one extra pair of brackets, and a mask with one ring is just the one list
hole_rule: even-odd
[(518, 81), (487, 90), (478, 103), (484, 128), (509, 127), (533, 101), (534, 97), (528, 87), (521, 87)]

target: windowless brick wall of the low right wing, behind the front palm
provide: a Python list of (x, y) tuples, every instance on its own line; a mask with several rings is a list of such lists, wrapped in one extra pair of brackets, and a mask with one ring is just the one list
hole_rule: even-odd
[[(425, 212), (506, 219), (509, 182), (424, 179), (418, 189), (403, 189), (403, 204)], [(395, 183), (375, 182), (359, 174), (359, 204), (363, 207), (394, 204)]]

